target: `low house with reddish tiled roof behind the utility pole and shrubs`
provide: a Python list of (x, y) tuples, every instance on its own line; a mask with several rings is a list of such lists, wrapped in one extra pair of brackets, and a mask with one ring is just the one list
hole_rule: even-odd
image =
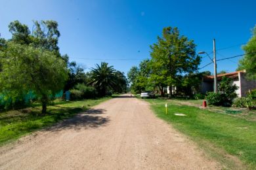
[[(256, 81), (255, 80), (247, 80), (245, 78), (246, 71), (235, 71), (232, 73), (225, 73), (221, 75), (217, 75), (217, 82), (218, 84), (221, 82), (223, 76), (232, 79), (232, 84), (236, 84), (238, 86), (238, 90), (236, 93), (238, 97), (245, 97), (246, 93), (249, 90), (253, 90), (256, 88)], [(204, 76), (202, 80), (202, 93), (213, 92), (214, 87), (214, 76)]]

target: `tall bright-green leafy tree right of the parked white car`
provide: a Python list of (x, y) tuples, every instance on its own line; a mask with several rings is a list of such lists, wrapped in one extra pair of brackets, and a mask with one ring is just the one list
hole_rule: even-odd
[(160, 73), (163, 76), (163, 83), (169, 86), (170, 92), (177, 82), (177, 75), (192, 73), (200, 64), (201, 58), (196, 55), (196, 44), (180, 35), (177, 27), (163, 28), (162, 37), (158, 37), (158, 42), (150, 48), (152, 64), (156, 65), (155, 75)]

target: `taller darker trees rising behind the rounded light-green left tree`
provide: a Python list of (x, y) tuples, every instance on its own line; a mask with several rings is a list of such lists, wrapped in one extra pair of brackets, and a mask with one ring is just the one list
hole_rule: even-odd
[[(12, 33), (10, 41), (18, 44), (26, 44), (35, 48), (43, 48), (54, 52), (58, 58), (62, 58), (68, 67), (68, 80), (64, 90), (70, 90), (78, 83), (83, 83), (85, 73), (83, 68), (79, 67), (75, 62), (69, 62), (68, 55), (60, 55), (58, 48), (58, 23), (53, 20), (33, 21), (33, 29), (30, 31), (27, 25), (20, 23), (18, 20), (9, 24), (9, 31)], [(1, 46), (1, 42), (0, 42)]]

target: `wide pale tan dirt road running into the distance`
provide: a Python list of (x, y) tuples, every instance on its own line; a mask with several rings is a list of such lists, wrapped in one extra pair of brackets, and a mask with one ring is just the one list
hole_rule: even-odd
[(122, 95), (0, 148), (0, 169), (219, 169), (148, 103)]

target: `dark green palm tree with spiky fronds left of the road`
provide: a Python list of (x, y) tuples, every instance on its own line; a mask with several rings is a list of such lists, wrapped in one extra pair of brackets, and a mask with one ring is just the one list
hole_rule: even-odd
[(99, 95), (104, 96), (116, 86), (116, 70), (108, 63), (96, 64), (96, 68), (91, 68), (90, 85), (94, 86)]

